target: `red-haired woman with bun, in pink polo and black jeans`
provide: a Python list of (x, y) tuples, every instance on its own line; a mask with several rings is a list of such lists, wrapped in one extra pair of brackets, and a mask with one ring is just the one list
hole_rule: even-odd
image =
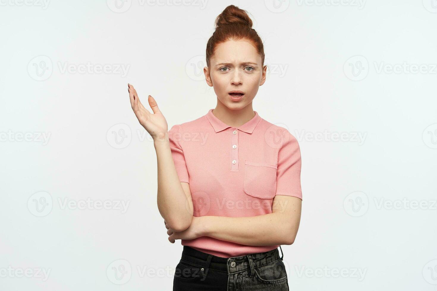
[(169, 240), (184, 246), (173, 290), (289, 290), (277, 247), (292, 244), (301, 216), (301, 156), (288, 130), (262, 119), (252, 100), (266, 79), (263, 43), (234, 5), (216, 19), (205, 79), (215, 109), (190, 122), (153, 114), (132, 85), (132, 109), (153, 137), (158, 209)]

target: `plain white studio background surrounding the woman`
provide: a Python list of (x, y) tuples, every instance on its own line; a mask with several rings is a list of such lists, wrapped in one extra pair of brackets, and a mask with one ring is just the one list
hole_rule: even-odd
[[(271, 68), (253, 109), (301, 147), (290, 290), (437, 288), (435, 0), (0, 3), (1, 290), (171, 290), (182, 246), (127, 83), (169, 128), (205, 115), (206, 42), (229, 4)], [(63, 204), (87, 199), (111, 205)]]

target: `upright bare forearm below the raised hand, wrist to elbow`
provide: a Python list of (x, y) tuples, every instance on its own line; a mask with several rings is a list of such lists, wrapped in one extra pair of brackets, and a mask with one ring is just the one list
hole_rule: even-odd
[(158, 168), (158, 209), (171, 229), (183, 231), (191, 224), (193, 209), (180, 184), (173, 162), (168, 134), (154, 140)]

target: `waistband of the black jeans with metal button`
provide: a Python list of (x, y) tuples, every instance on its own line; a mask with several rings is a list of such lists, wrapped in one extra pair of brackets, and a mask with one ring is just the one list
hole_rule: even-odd
[[(279, 247), (281, 248), (281, 246)], [(205, 269), (209, 268), (210, 270), (227, 272), (230, 275), (248, 269), (250, 270), (250, 274), (253, 274), (253, 268), (269, 264), (278, 259), (282, 260), (283, 257), (284, 253), (282, 253), (280, 257), (277, 248), (263, 253), (251, 253), (241, 257), (223, 258), (201, 252), (190, 246), (184, 246), (181, 259), (200, 265)]]

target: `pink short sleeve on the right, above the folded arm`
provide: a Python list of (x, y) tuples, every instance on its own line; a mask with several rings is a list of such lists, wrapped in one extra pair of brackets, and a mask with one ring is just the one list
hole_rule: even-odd
[(300, 174), (301, 154), (298, 140), (284, 129), (277, 158), (276, 195), (302, 199)]

